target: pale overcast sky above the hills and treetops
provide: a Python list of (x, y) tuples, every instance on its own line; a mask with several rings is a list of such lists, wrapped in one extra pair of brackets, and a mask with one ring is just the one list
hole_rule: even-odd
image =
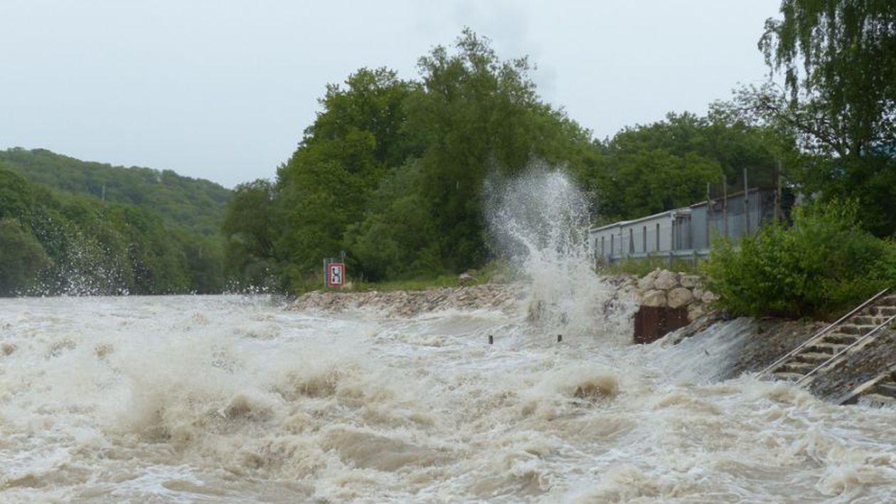
[(271, 177), (327, 82), (362, 66), (416, 77), (464, 26), (529, 55), (542, 98), (603, 138), (762, 81), (756, 41), (779, 4), (2, 0), (0, 148), (228, 187)]

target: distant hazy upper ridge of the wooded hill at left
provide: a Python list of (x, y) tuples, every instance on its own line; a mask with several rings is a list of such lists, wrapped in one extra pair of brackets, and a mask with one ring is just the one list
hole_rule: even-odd
[(0, 150), (4, 166), (29, 182), (158, 214), (169, 224), (202, 235), (220, 232), (230, 191), (208, 180), (177, 175), (171, 170), (112, 167), (62, 156), (46, 149)]

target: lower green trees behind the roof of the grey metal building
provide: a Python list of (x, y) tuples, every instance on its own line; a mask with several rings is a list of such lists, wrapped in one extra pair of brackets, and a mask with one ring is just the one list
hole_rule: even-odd
[(705, 116), (669, 113), (616, 133), (604, 142), (590, 184), (602, 218), (637, 218), (701, 201), (706, 184), (719, 184), (723, 175), (732, 184), (745, 168), (753, 184), (774, 184), (775, 167), (794, 158), (787, 134), (717, 103)]

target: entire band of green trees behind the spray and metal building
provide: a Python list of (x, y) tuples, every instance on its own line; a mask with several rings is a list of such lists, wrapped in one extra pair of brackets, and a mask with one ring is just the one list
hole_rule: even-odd
[(743, 167), (774, 167), (793, 139), (728, 104), (668, 115), (599, 141), (538, 97), (526, 59), (501, 60), (466, 30), (418, 61), (419, 79), (360, 69), (328, 86), (276, 180), (242, 184), (224, 222), (228, 271), (244, 285), (319, 286), (348, 252), (355, 278), (435, 277), (481, 266), (484, 185), (533, 163), (566, 170), (596, 218), (699, 201)]

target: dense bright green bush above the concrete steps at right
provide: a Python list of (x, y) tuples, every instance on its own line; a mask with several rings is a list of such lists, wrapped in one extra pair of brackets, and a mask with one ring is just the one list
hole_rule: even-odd
[(854, 201), (814, 203), (739, 248), (716, 240), (704, 270), (732, 314), (831, 316), (896, 285), (896, 243), (863, 230)]

